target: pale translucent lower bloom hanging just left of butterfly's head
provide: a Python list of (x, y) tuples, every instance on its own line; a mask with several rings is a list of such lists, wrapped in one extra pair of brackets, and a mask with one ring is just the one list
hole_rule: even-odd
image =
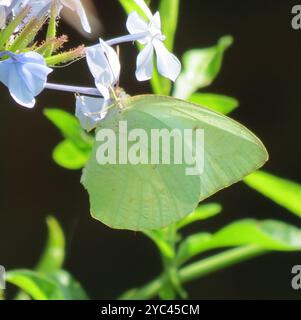
[(83, 129), (91, 131), (106, 116), (105, 108), (110, 100), (103, 98), (92, 98), (87, 96), (76, 97), (75, 115)]

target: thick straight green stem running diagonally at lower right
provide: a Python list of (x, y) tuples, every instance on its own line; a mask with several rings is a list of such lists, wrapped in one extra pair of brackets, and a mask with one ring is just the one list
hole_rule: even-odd
[[(186, 283), (267, 252), (267, 250), (254, 245), (230, 249), (183, 267), (179, 270), (179, 278), (181, 283)], [(141, 289), (129, 291), (123, 294), (120, 299), (151, 299), (158, 294), (166, 280), (166, 277), (161, 275), (143, 286)]]

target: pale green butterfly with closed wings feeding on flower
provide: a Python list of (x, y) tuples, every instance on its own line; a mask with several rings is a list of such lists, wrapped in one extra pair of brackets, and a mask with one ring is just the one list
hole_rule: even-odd
[(99, 130), (112, 129), (118, 144), (120, 121), (127, 121), (128, 131), (143, 128), (148, 134), (154, 128), (203, 129), (204, 170), (201, 175), (186, 175), (186, 164), (100, 165), (96, 160), (100, 142), (96, 141), (82, 183), (90, 196), (92, 216), (112, 228), (138, 231), (166, 227), (268, 160), (264, 145), (247, 128), (222, 114), (175, 98), (126, 97), (110, 108), (96, 136)]

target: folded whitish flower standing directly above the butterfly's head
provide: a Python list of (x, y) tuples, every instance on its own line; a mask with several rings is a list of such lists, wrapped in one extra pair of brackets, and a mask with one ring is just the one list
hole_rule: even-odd
[(120, 76), (120, 62), (116, 51), (100, 39), (99, 44), (86, 49), (86, 59), (97, 89), (105, 100), (109, 100)]

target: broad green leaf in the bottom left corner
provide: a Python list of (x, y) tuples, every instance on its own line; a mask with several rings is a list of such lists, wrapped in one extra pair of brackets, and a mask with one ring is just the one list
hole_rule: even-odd
[(22, 289), (34, 300), (87, 299), (78, 282), (63, 270), (50, 274), (31, 270), (13, 270), (7, 272), (6, 280)]

